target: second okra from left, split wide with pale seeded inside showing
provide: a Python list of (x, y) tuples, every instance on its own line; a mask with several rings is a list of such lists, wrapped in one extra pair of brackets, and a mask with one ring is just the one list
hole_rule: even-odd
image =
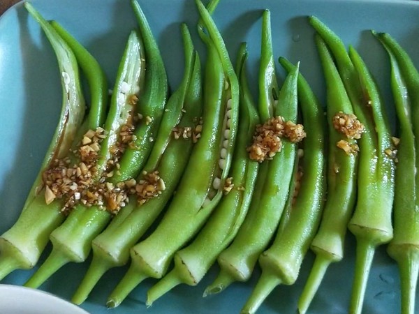
[[(138, 13), (139, 8), (135, 4), (134, 10)], [(156, 48), (147, 20), (142, 19), (139, 24), (141, 40), (136, 31), (131, 32), (119, 67), (110, 112), (105, 121), (104, 128), (107, 136), (101, 144), (96, 163), (97, 179), (95, 183), (108, 179), (108, 177), (111, 177), (111, 181), (118, 183), (121, 178), (130, 178), (132, 173), (135, 174), (142, 169), (151, 152), (152, 144), (154, 144), (153, 141), (149, 140), (149, 137), (157, 132), (161, 114), (166, 104), (167, 78), (163, 63), (159, 62), (159, 59), (161, 60), (159, 50)], [(144, 60), (146, 61), (144, 62)], [(145, 71), (146, 66), (147, 71)], [(144, 73), (146, 74), (144, 75)], [(154, 78), (155, 73), (158, 74), (156, 80), (149, 81)], [(144, 91), (142, 91), (143, 82)], [(130, 124), (131, 119), (135, 117), (133, 95), (135, 95), (135, 98), (139, 97), (139, 100), (143, 100), (142, 103), (138, 101), (138, 112), (143, 114), (142, 117), (146, 119), (135, 128), (135, 135), (142, 138), (133, 140), (133, 142), (134, 145), (137, 145), (138, 142), (147, 142), (147, 144), (140, 144), (140, 149), (128, 146), (119, 161), (119, 169), (115, 168), (110, 172), (105, 172), (105, 170), (109, 170), (108, 160), (112, 159), (112, 148), (119, 141), (119, 132), (126, 124)], [(147, 116), (144, 115), (147, 112), (154, 113), (152, 121), (147, 121)], [(140, 154), (135, 153), (136, 164), (124, 163), (124, 156), (127, 153), (131, 156), (129, 151), (135, 149), (140, 152)], [(115, 175), (109, 175), (114, 172)], [(106, 174), (105, 177), (103, 174)], [(106, 205), (110, 207), (110, 204)], [(102, 209), (100, 205), (94, 205), (90, 208), (86, 208), (84, 205), (75, 207), (66, 221), (51, 233), (52, 253), (25, 285), (27, 287), (38, 287), (64, 264), (84, 262), (91, 251), (91, 241), (108, 225), (111, 217), (110, 212)]]

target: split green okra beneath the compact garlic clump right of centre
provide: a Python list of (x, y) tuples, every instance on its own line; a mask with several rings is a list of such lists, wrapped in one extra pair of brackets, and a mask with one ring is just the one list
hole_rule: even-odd
[[(266, 121), (274, 116), (297, 121), (297, 96), (293, 87), (277, 86), (270, 36), (270, 11), (263, 13), (261, 61), (259, 72), (259, 113)], [(281, 96), (282, 95), (282, 96)], [(291, 95), (291, 96), (290, 96)], [(281, 98), (278, 99), (278, 96)], [(288, 97), (293, 101), (288, 104)], [(233, 281), (247, 281), (260, 253), (272, 238), (284, 209), (295, 163), (295, 144), (284, 141), (281, 152), (260, 165), (249, 213), (233, 243), (218, 257), (219, 276), (204, 295), (221, 292)], [(263, 209), (260, 210), (260, 209)]]

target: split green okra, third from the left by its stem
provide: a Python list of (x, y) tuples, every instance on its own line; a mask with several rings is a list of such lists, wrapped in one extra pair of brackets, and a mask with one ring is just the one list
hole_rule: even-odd
[(119, 267), (129, 260), (129, 250), (156, 220), (172, 197), (184, 172), (193, 147), (193, 139), (175, 140), (172, 129), (196, 129), (202, 111), (202, 83), (200, 60), (193, 50), (193, 43), (186, 24), (182, 24), (184, 38), (185, 70), (179, 89), (168, 100), (159, 133), (144, 167), (146, 172), (159, 171), (166, 186), (159, 197), (140, 206), (134, 198), (110, 225), (92, 241), (93, 260), (72, 301), (81, 304), (101, 276), (112, 267)]

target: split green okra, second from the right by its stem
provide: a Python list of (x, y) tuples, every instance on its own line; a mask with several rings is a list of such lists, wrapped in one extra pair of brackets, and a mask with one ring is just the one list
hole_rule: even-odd
[[(378, 124), (374, 124), (373, 117), (377, 110), (374, 110), (372, 101), (377, 100), (367, 98), (371, 95), (366, 95), (362, 89), (359, 77), (361, 63), (355, 63), (354, 50), (350, 57), (342, 40), (325, 24), (316, 17), (310, 17), (309, 21), (335, 57), (353, 110), (366, 130), (359, 140), (358, 196), (354, 214), (348, 223), (349, 230), (357, 239), (355, 280), (349, 311), (360, 313), (375, 248), (392, 239), (395, 163), (392, 156), (385, 154), (386, 149), (392, 149), (392, 143), (388, 135), (376, 135)], [(369, 110), (369, 106), (373, 110)]]

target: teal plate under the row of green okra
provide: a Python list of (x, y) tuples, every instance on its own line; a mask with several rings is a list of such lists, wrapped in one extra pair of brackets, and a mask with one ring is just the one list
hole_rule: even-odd
[[(128, 32), (136, 27), (129, 1), (34, 0), (33, 3), (46, 19), (59, 21), (94, 54), (112, 87)], [(205, 51), (196, 34), (198, 13), (194, 1), (140, 0), (140, 3), (161, 47), (170, 86), (175, 89), (183, 73), (180, 22), (189, 24), (198, 50), (202, 54)], [(390, 116), (394, 117), (388, 58), (369, 30), (389, 32), (419, 65), (419, 2), (221, 0), (214, 20), (233, 59), (240, 42), (248, 42), (250, 82), (255, 96), (260, 17), (265, 8), (272, 10), (274, 54), (293, 62), (301, 61), (301, 72), (321, 100), (325, 95), (323, 75), (314, 46), (314, 31), (307, 23), (307, 15), (317, 15), (345, 43), (358, 49), (383, 91)], [(279, 66), (278, 73), (284, 77)], [(13, 225), (22, 209), (57, 124), (60, 106), (61, 87), (55, 55), (38, 24), (28, 16), (22, 3), (18, 3), (0, 18), (0, 233)], [(347, 313), (355, 255), (355, 241), (351, 234), (347, 238), (346, 256), (342, 262), (330, 267), (310, 313)], [(50, 247), (41, 257), (41, 262), (49, 251)], [(277, 287), (259, 313), (295, 313), (312, 261), (313, 255), (309, 253), (295, 285)], [(88, 264), (89, 260), (66, 265), (44, 283), (41, 290), (70, 299)], [(248, 283), (236, 283), (226, 292), (204, 299), (203, 290), (217, 273), (214, 266), (197, 287), (175, 287), (151, 308), (145, 306), (145, 295), (155, 281), (147, 280), (119, 308), (107, 310), (104, 306), (106, 297), (124, 271), (125, 267), (109, 271), (82, 308), (92, 314), (239, 313), (260, 274), (256, 269)], [(3, 283), (22, 285), (32, 272), (15, 271)], [(399, 313), (399, 301), (397, 267), (383, 246), (378, 249), (369, 274), (364, 313)]]

